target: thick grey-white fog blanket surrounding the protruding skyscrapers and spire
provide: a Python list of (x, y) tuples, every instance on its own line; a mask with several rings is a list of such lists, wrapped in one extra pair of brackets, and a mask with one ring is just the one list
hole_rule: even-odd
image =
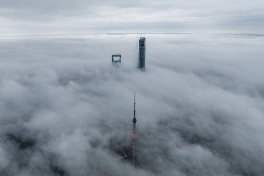
[[(136, 69), (146, 37), (146, 71)], [(0, 40), (0, 175), (261, 176), (263, 36)], [(122, 54), (122, 66), (111, 65)], [(139, 167), (129, 145), (136, 90)]]

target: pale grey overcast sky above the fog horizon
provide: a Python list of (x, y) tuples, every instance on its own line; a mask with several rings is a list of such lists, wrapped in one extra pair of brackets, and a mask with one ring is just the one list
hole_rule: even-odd
[(0, 0), (1, 36), (263, 31), (263, 0)]

